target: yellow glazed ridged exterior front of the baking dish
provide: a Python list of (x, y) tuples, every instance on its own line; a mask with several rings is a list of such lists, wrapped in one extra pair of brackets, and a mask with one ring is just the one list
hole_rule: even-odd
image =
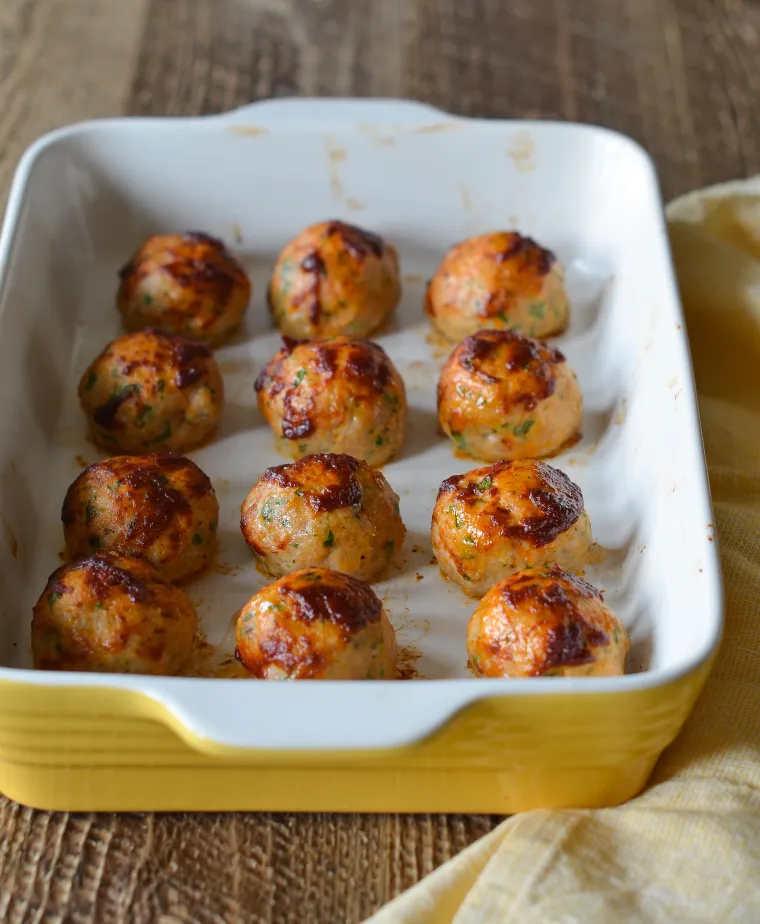
[(66, 811), (487, 812), (635, 796), (711, 662), (664, 686), (496, 697), (384, 751), (246, 751), (123, 690), (0, 683), (0, 790)]

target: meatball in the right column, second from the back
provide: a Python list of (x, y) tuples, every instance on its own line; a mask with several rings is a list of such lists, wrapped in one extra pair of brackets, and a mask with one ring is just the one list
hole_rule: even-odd
[(559, 350), (509, 330), (481, 330), (451, 354), (438, 420), (457, 450), (485, 462), (551, 455), (578, 435), (583, 397)]

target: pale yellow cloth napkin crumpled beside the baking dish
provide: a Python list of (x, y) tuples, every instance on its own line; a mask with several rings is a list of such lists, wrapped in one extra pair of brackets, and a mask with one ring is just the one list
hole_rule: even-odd
[(715, 669), (641, 796), (515, 815), (371, 924), (760, 924), (760, 177), (668, 221), (726, 589)]

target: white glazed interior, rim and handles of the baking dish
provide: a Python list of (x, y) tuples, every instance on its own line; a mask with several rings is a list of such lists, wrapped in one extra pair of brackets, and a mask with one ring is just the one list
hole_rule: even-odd
[[(188, 592), (209, 640), (229, 643), (232, 615), (265, 581), (240, 535), (240, 503), (264, 468), (283, 461), (253, 391), (279, 343), (265, 286), (283, 244), (328, 218), (366, 226), (400, 252), (403, 302), (376, 339), (407, 385), (406, 444), (384, 471), (409, 533), (376, 589), (430, 682), (356, 682), (349, 694), (340, 683), (29, 670), (31, 609), (60, 564), (64, 493), (81, 458), (102, 457), (85, 440), (76, 385), (119, 333), (117, 269), (157, 232), (222, 237), (254, 279), (245, 328), (218, 353), (221, 432), (191, 454), (219, 495), (219, 560), (229, 573), (210, 571)], [(567, 268), (573, 315), (558, 345), (579, 374), (586, 411), (582, 441), (553, 464), (582, 487), (595, 539), (608, 549), (587, 577), (631, 633), (623, 678), (469, 677), (465, 627), (475, 603), (431, 563), (438, 486), (479, 463), (456, 458), (436, 433), (445, 353), (429, 340), (424, 282), (453, 242), (502, 228), (535, 237)], [(372, 747), (413, 740), (481, 696), (664, 683), (714, 648), (720, 577), (686, 335), (655, 173), (629, 139), (394, 101), (287, 100), (202, 119), (87, 123), (25, 155), (0, 271), (0, 679), (140, 689), (194, 732), (229, 744)]]

